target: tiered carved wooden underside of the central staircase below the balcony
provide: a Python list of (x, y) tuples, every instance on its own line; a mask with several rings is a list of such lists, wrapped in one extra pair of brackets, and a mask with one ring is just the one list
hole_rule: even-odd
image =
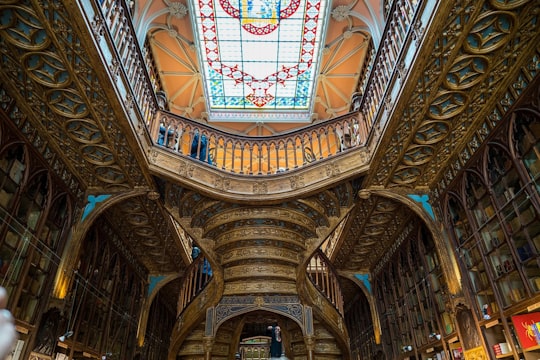
[[(330, 235), (354, 204), (350, 183), (277, 204), (215, 201), (169, 183), (165, 206), (197, 238), (225, 280), (226, 295), (296, 294), (296, 267)], [(223, 275), (220, 273), (223, 271)]]

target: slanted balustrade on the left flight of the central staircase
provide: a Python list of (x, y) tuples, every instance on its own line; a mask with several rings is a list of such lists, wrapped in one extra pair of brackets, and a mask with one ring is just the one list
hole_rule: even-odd
[(199, 256), (186, 270), (186, 276), (178, 297), (178, 314), (204, 289), (212, 279), (212, 268), (204, 256)]

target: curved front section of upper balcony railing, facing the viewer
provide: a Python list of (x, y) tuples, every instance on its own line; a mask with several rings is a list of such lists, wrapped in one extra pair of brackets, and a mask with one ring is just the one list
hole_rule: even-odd
[(152, 137), (157, 145), (223, 171), (270, 175), (327, 159), (365, 144), (368, 129), (351, 113), (284, 135), (231, 135), (180, 116), (158, 112)]

